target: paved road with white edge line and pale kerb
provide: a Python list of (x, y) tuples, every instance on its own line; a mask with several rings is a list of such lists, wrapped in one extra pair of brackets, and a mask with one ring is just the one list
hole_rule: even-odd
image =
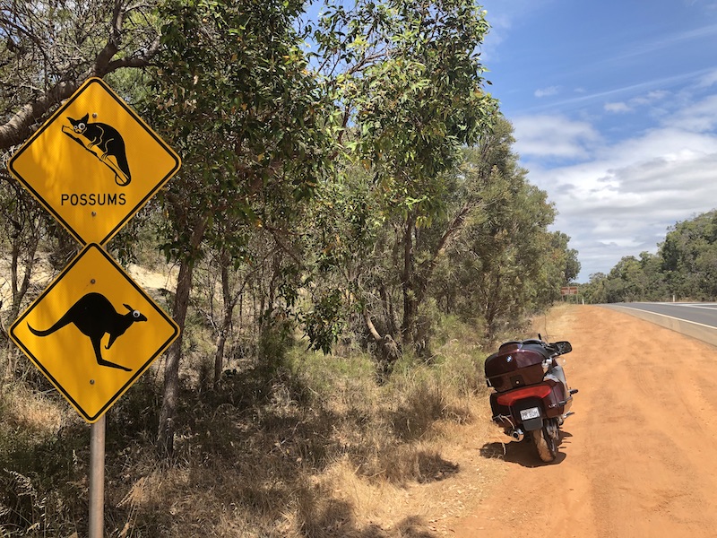
[(717, 346), (717, 303), (614, 303), (614, 308)]

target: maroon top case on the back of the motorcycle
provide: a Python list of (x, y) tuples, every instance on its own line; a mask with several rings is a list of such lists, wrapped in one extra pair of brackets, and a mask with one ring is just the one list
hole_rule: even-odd
[(543, 379), (543, 360), (550, 354), (538, 341), (503, 343), (496, 353), (486, 359), (486, 380), (498, 392), (525, 385), (535, 385)]

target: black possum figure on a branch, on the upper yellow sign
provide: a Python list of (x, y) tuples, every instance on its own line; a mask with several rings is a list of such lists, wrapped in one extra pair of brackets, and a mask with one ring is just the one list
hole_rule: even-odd
[[(120, 187), (126, 187), (132, 180), (129, 173), (129, 164), (125, 152), (125, 140), (117, 129), (107, 124), (95, 122), (89, 123), (90, 114), (85, 114), (80, 119), (70, 120), (70, 126), (62, 126), (63, 133), (67, 134), (75, 142), (95, 155), (115, 173), (115, 182)], [(114, 157), (115, 161), (108, 158)]]

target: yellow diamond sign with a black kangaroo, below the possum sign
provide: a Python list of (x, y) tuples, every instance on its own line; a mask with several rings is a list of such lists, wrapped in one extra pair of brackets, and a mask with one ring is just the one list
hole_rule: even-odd
[(85, 421), (96, 422), (179, 327), (108, 254), (84, 247), (10, 328), (10, 338)]

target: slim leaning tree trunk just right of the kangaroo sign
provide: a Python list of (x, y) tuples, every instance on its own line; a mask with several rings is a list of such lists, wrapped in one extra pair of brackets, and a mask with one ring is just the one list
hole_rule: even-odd
[(192, 291), (194, 273), (194, 256), (196, 248), (202, 242), (206, 222), (200, 222), (192, 232), (189, 256), (184, 256), (179, 263), (177, 292), (174, 299), (172, 314), (181, 332), (177, 340), (169, 347), (167, 364), (164, 368), (164, 395), (160, 409), (160, 426), (157, 432), (157, 450), (161, 457), (171, 456), (174, 452), (175, 419), (179, 401), (179, 363), (182, 360), (182, 341), (186, 324), (186, 311), (189, 307), (189, 296)]

